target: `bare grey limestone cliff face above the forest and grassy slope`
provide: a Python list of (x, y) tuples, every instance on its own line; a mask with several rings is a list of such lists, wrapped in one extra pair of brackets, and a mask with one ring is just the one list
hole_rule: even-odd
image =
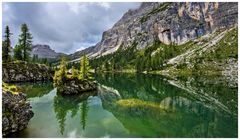
[(126, 48), (136, 41), (137, 48), (154, 40), (164, 44), (183, 44), (189, 40), (237, 24), (237, 3), (142, 3), (129, 10), (102, 35), (88, 55), (98, 57)]

